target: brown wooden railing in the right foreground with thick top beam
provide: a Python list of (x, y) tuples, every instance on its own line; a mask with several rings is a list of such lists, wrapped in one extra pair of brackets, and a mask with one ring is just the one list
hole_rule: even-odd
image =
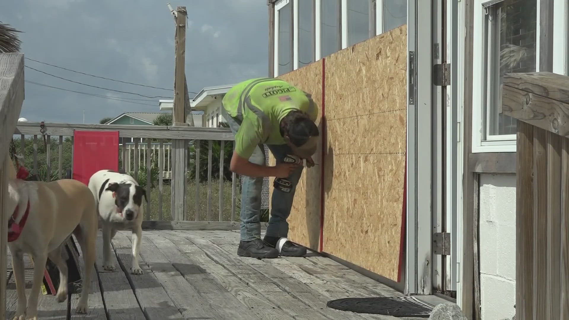
[(517, 119), (516, 319), (569, 319), (569, 77), (504, 77)]

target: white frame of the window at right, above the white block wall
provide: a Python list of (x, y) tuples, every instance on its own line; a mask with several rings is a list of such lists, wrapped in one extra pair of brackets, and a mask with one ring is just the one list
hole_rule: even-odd
[[(381, 0), (378, 0), (381, 1)], [(487, 136), (485, 123), (486, 118), (484, 107), (484, 58), (485, 36), (484, 36), (484, 6), (497, 3), (495, 0), (475, 0), (474, 13), (474, 52), (473, 52), (473, 92), (472, 92), (472, 153), (482, 152), (516, 152), (516, 134), (505, 134), (500, 136)], [(539, 71), (539, 1), (536, 0), (536, 70)], [(569, 75), (569, 31), (567, 31), (569, 8), (567, 0), (554, 0), (554, 44), (553, 44), (553, 71), (555, 73)], [(497, 88), (496, 88), (497, 89)], [(485, 140), (483, 138), (486, 137)]]

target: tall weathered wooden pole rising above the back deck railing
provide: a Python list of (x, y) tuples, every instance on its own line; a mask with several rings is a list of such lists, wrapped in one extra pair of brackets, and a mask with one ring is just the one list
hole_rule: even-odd
[[(170, 3), (168, 3), (170, 7)], [(176, 7), (170, 11), (176, 23), (176, 69), (174, 81), (174, 125), (195, 126), (192, 108), (189, 105), (188, 83), (185, 77), (185, 28), (187, 11), (185, 7)], [(182, 88), (182, 79), (184, 87)]]

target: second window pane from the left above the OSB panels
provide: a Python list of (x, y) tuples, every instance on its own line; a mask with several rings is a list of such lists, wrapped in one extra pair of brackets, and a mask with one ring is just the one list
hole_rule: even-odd
[(298, 2), (298, 67), (314, 62), (314, 1)]

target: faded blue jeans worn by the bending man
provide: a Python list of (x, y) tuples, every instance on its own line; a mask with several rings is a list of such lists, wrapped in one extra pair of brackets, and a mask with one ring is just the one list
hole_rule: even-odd
[[(241, 121), (232, 118), (227, 114), (224, 108), (221, 113), (229, 124), (229, 128), (233, 134), (237, 133), (241, 126)], [(287, 145), (267, 145), (271, 153), (274, 155), (277, 163), (282, 163), (285, 155), (291, 154), (292, 150)], [(249, 158), (249, 162), (257, 165), (265, 165), (265, 148), (259, 144), (255, 147), (255, 151)], [(300, 166), (294, 170), (288, 177), (292, 183), (291, 192), (286, 193), (281, 190), (274, 189), (271, 198), (271, 216), (269, 225), (267, 225), (267, 236), (286, 237), (288, 235), (288, 216), (292, 208), (292, 200), (296, 191), (296, 184), (300, 179), (303, 167)], [(241, 240), (250, 241), (261, 239), (261, 191), (263, 187), (263, 178), (252, 178), (243, 176), (241, 186)]]

